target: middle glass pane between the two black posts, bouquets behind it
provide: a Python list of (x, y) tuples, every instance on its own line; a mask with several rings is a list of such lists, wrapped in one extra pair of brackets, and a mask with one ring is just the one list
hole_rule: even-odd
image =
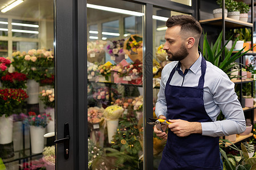
[[(89, 37), (87, 44), (89, 168), (140, 169), (143, 6), (118, 0), (87, 2), (89, 35), (98, 31), (98, 39)], [(92, 26), (95, 21), (97, 27)]]

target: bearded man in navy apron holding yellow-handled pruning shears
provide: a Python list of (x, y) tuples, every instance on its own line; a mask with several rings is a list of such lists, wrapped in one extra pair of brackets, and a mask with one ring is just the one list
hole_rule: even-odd
[[(234, 83), (198, 52), (202, 28), (192, 16), (171, 16), (164, 50), (168, 63), (162, 71), (156, 116), (168, 120), (161, 169), (222, 169), (218, 137), (245, 131), (245, 117)], [(216, 121), (220, 110), (225, 120)]]

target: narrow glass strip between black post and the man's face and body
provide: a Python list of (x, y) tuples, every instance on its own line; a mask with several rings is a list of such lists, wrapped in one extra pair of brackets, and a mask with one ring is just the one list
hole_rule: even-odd
[[(163, 50), (164, 43), (166, 40), (164, 39), (166, 33), (166, 20), (171, 15), (186, 15), (180, 12), (164, 10), (160, 8), (154, 8), (153, 15), (163, 17), (164, 20), (154, 19), (153, 20), (153, 101), (154, 106), (156, 103), (156, 99), (158, 97), (159, 87), (160, 87), (160, 80), (161, 80), (161, 71), (163, 67), (169, 63), (170, 61), (167, 59), (167, 53)], [(171, 15), (170, 15), (171, 14)], [(154, 17), (153, 17), (154, 18)], [(155, 113), (154, 113), (154, 117)], [(160, 139), (156, 137), (154, 134), (154, 168), (158, 168), (160, 160), (162, 159), (162, 151), (164, 145), (166, 144), (166, 140)]]

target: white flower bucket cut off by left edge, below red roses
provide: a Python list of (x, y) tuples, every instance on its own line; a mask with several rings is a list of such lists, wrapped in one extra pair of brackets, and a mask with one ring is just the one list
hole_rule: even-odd
[(0, 117), (0, 144), (7, 144), (13, 141), (13, 115)]

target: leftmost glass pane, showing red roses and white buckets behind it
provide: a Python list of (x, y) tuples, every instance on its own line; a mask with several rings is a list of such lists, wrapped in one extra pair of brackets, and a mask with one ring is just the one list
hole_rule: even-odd
[(54, 133), (44, 138), (55, 131), (53, 0), (23, 1), (1, 16), (0, 167), (54, 168)]

